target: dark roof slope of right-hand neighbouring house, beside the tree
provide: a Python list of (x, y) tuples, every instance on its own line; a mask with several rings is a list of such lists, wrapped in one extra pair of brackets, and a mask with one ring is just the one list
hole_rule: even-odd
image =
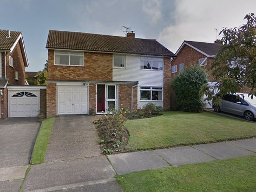
[(193, 47), (205, 52), (207, 55), (216, 56), (218, 50), (220, 49), (220, 43), (206, 43), (206, 42), (198, 42), (198, 41), (184, 41)]

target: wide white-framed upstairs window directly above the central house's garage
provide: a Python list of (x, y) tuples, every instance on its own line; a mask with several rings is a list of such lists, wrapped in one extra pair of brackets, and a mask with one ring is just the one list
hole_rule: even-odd
[(83, 52), (55, 51), (54, 64), (83, 66)]

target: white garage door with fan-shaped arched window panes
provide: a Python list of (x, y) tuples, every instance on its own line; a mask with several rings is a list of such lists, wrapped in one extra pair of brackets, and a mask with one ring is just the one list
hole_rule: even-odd
[(9, 91), (9, 117), (36, 117), (40, 111), (40, 91)]

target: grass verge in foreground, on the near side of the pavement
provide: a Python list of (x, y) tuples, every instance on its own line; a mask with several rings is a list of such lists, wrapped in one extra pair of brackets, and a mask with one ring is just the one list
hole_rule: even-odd
[(256, 156), (117, 176), (124, 191), (256, 191)]

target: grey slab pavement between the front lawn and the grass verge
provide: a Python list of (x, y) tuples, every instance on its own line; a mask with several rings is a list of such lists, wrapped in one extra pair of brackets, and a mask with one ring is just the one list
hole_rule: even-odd
[(119, 175), (170, 165), (194, 164), (256, 153), (256, 138), (108, 155)]

